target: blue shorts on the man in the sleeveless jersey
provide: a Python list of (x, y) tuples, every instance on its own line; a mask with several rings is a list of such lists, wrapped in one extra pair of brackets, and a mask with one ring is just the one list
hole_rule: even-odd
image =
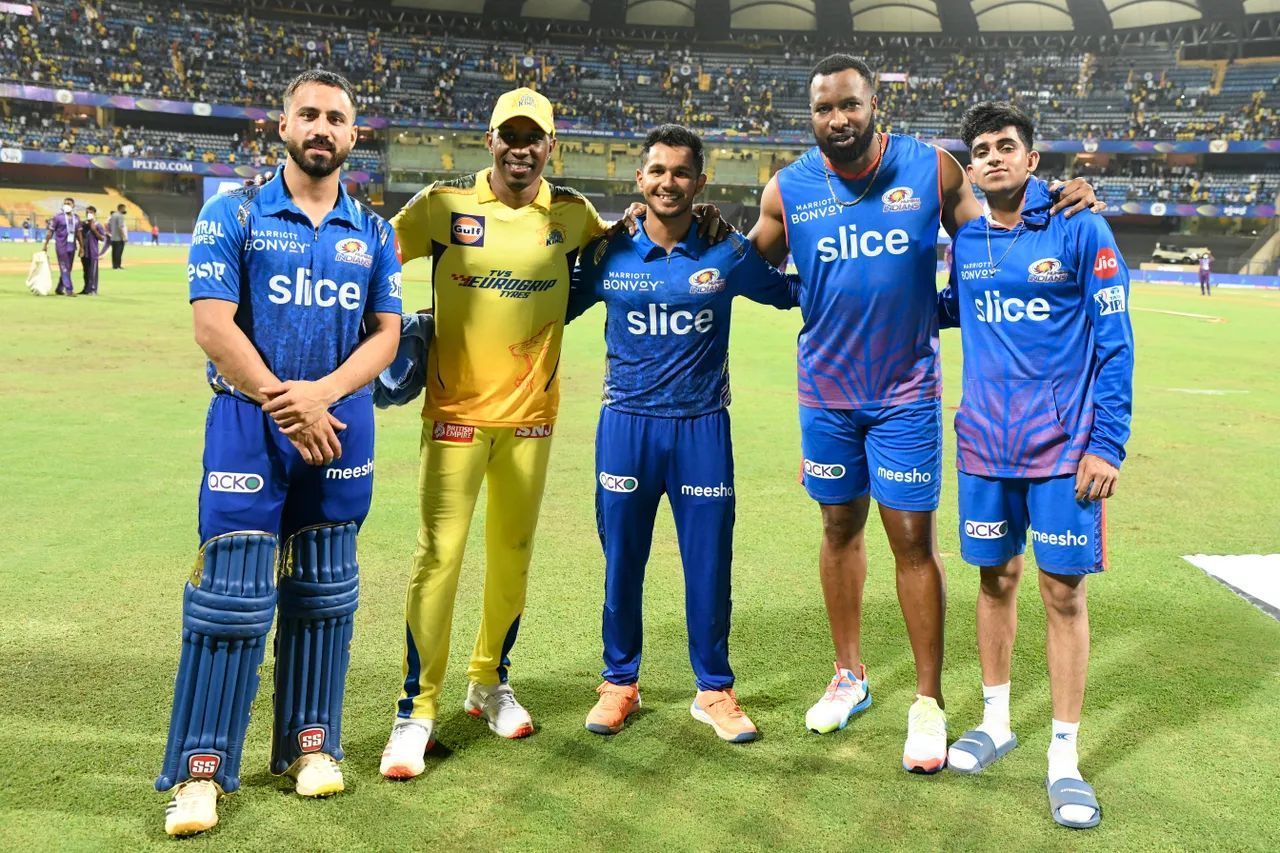
[(800, 406), (801, 480), (818, 503), (868, 492), (891, 510), (932, 512), (942, 488), (942, 401), (877, 409)]

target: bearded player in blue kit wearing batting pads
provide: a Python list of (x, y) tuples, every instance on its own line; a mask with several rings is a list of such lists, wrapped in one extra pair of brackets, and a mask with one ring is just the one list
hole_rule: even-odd
[(276, 606), (270, 768), (303, 797), (343, 789), (356, 534), (372, 496), (370, 380), (401, 325), (392, 231), (339, 179), (355, 117), (344, 78), (298, 76), (280, 118), (284, 168), (210, 199), (192, 234), (187, 279), (214, 400), (200, 556), (156, 780), (177, 788), (169, 835), (214, 826), (218, 795), (239, 786)]

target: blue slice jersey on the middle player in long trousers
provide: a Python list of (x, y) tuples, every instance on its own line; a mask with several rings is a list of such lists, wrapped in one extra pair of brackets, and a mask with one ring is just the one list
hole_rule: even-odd
[(668, 255), (644, 228), (599, 237), (579, 256), (568, 319), (603, 301), (604, 405), (692, 418), (730, 403), (728, 325), (735, 296), (795, 307), (797, 282), (739, 233), (710, 246), (691, 227)]

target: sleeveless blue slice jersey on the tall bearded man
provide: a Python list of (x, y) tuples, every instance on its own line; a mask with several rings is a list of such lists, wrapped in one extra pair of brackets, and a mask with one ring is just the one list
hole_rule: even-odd
[(878, 170), (841, 175), (814, 147), (777, 174), (787, 245), (803, 282), (803, 406), (897, 406), (942, 392), (940, 152), (906, 136), (881, 138)]

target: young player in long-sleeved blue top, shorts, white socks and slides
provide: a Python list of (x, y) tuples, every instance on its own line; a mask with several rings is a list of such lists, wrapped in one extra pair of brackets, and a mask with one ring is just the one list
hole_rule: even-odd
[(1102, 818), (1078, 766), (1089, 654), (1085, 578), (1106, 565), (1105, 500), (1129, 439), (1133, 328), (1129, 270), (1101, 216), (1051, 216), (1030, 119), (1010, 104), (965, 117), (969, 178), (988, 216), (960, 227), (951, 284), (938, 297), (959, 325), (964, 396), (956, 412), (960, 553), (980, 566), (978, 649), (983, 720), (948, 763), (978, 772), (1016, 745), (1009, 693), (1027, 532), (1039, 566), (1053, 706), (1053, 820)]

